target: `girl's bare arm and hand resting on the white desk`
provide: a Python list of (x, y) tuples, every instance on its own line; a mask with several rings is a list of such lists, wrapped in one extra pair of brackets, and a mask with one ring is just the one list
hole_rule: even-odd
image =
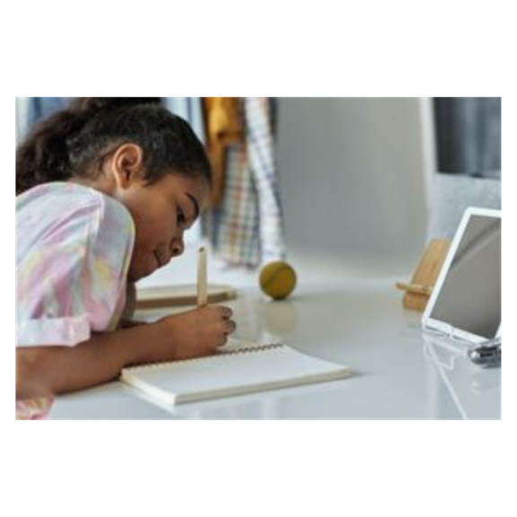
[(235, 330), (232, 311), (206, 307), (156, 323), (93, 336), (73, 347), (15, 349), (15, 399), (91, 388), (132, 364), (210, 355)]

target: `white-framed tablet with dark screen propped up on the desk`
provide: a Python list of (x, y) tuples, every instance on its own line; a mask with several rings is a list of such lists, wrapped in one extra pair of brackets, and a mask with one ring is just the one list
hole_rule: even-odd
[(422, 320), (469, 343), (503, 337), (503, 212), (469, 208)]

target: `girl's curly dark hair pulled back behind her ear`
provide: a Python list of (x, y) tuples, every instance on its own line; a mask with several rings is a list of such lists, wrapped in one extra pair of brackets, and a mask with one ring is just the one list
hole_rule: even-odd
[(94, 177), (123, 144), (144, 151), (145, 179), (198, 175), (211, 181), (204, 146), (160, 96), (81, 96), (34, 127), (15, 151), (15, 193), (41, 183)]

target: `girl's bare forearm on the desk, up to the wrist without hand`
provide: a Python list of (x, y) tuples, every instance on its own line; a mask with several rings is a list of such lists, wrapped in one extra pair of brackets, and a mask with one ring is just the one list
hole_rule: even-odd
[(159, 324), (93, 336), (73, 347), (42, 346), (15, 350), (15, 399), (82, 390), (117, 379), (130, 364), (153, 361), (150, 348), (160, 341)]

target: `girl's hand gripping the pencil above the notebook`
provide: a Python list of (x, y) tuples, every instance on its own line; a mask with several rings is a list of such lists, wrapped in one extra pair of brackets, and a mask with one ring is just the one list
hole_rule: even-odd
[(236, 329), (232, 316), (227, 307), (207, 306), (158, 321), (165, 360), (214, 354)]

